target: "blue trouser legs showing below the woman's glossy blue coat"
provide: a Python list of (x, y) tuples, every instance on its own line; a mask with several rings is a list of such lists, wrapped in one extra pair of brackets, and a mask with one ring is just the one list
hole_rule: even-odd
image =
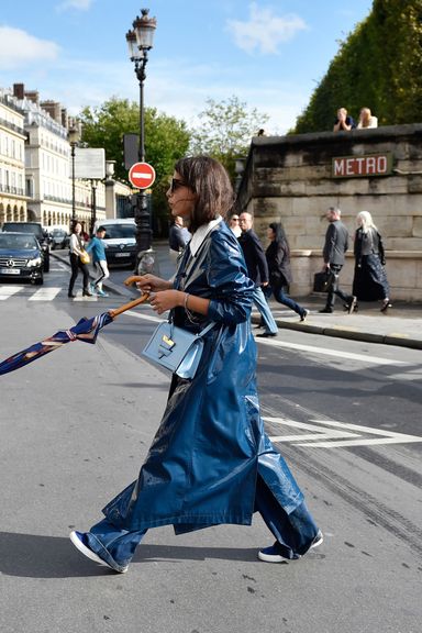
[[(256, 482), (255, 511), (263, 517), (267, 528), (281, 545), (282, 556), (289, 559), (306, 554), (318, 534), (304, 501), (288, 514), (258, 475)], [(107, 519), (84, 534), (84, 543), (96, 552), (113, 569), (121, 571), (133, 558), (137, 545), (146, 534), (144, 531), (129, 532), (115, 528)]]

